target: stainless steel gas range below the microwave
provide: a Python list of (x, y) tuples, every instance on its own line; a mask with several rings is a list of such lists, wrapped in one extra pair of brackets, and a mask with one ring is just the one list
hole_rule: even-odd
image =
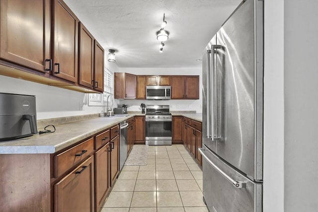
[(171, 145), (172, 115), (169, 105), (147, 105), (146, 145)]

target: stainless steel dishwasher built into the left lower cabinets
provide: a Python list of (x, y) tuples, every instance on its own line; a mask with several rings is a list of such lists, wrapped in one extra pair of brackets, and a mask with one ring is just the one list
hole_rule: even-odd
[(119, 141), (119, 170), (121, 171), (124, 163), (127, 159), (127, 127), (128, 123), (123, 121), (119, 124), (120, 126), (120, 141)]

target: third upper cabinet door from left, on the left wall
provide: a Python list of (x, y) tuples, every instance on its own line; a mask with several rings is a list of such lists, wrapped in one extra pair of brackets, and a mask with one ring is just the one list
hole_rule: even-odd
[(94, 38), (79, 23), (79, 84), (92, 88), (94, 67)]

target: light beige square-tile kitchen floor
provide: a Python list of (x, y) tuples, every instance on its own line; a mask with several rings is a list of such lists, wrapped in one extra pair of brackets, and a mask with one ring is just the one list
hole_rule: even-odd
[(202, 170), (182, 144), (149, 146), (146, 166), (124, 166), (101, 212), (208, 212)]

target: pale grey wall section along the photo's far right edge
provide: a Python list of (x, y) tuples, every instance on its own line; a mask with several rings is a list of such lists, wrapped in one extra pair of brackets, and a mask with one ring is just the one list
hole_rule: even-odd
[(284, 2), (285, 211), (318, 210), (318, 1)]

